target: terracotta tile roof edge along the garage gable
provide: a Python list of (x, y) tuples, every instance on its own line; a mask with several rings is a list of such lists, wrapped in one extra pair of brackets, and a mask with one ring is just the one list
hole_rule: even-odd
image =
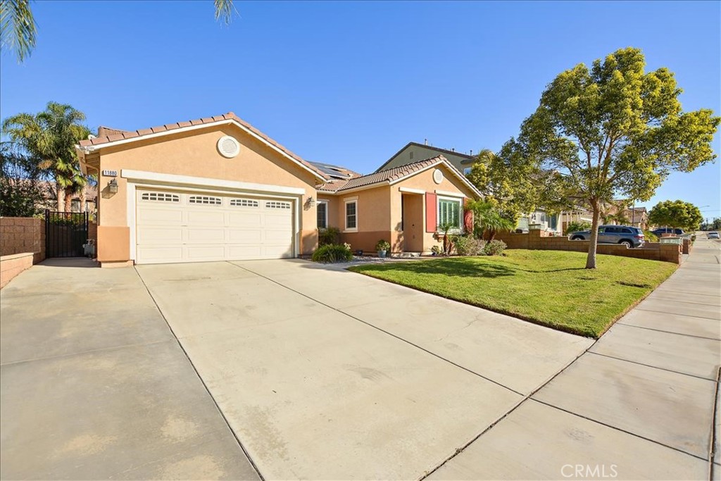
[(302, 159), (300, 156), (293, 154), (292, 151), (286, 149), (282, 145), (278, 144), (278, 142), (274, 141), (272, 138), (265, 135), (265, 133), (262, 133), (257, 128), (253, 127), (249, 123), (247, 123), (245, 120), (242, 120), (237, 115), (235, 115), (233, 112), (228, 112), (224, 115), (215, 115), (214, 117), (203, 117), (195, 120), (188, 120), (187, 122), (176, 122), (176, 123), (167, 123), (165, 125), (158, 125), (157, 127), (153, 128), (143, 128), (138, 131), (120, 131), (118, 129), (110, 129), (107, 127), (101, 127), (98, 128), (98, 134), (101, 132), (106, 135), (98, 135), (95, 138), (89, 138), (87, 140), (80, 141), (81, 147), (94, 147), (94, 146), (102, 146), (102, 144), (108, 144), (110, 142), (125, 140), (128, 138), (136, 138), (136, 137), (142, 137), (150, 135), (151, 133), (159, 133), (159, 132), (165, 132), (165, 131), (174, 131), (179, 128), (184, 127), (190, 127), (192, 125), (203, 125), (206, 123), (214, 123), (214, 122), (220, 122), (221, 120), (234, 120), (235, 122), (239, 123), (240, 125), (243, 125), (244, 128), (247, 128), (252, 133), (255, 133), (255, 135), (262, 138), (264, 141), (266, 141), (268, 144), (271, 144), (275, 146), (277, 149), (280, 149), (280, 151), (283, 151), (284, 154), (290, 156), (292, 159), (296, 160), (296, 162), (303, 164), (305, 167), (308, 167), (311, 169), (311, 171), (315, 172), (319, 177), (322, 179), (328, 179), (328, 176), (325, 175), (320, 169), (315, 167), (310, 162), (306, 162), (304, 159)]

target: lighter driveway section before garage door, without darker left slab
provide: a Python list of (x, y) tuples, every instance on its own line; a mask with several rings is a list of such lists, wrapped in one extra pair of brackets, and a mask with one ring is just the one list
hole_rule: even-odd
[(417, 479), (591, 341), (301, 260), (139, 266), (266, 479)]

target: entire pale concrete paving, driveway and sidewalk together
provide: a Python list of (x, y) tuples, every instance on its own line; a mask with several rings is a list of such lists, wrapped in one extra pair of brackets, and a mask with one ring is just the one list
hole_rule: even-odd
[(595, 344), (301, 260), (48, 261), (1, 295), (0, 477), (717, 479), (706, 244)]

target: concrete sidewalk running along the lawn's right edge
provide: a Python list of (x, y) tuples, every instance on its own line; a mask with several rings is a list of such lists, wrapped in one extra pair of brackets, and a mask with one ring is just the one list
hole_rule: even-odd
[(720, 245), (699, 236), (668, 281), (430, 479), (721, 479)]

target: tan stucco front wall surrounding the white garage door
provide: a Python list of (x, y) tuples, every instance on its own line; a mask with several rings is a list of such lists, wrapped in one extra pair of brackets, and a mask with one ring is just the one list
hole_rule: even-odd
[[(218, 139), (224, 135), (233, 136), (241, 145), (240, 153), (232, 159), (221, 156), (216, 149)], [(298, 226), (301, 253), (309, 254), (317, 245), (316, 208), (305, 202), (309, 196), (317, 195), (314, 175), (235, 125), (212, 126), (109, 147), (101, 151), (99, 163), (101, 171), (118, 171), (115, 177), (118, 193), (115, 194), (107, 191), (112, 177), (99, 177), (98, 260), (101, 262), (101, 252), (107, 252), (102, 247), (107, 241), (103, 239), (101, 226), (127, 227), (133, 216), (127, 212), (127, 180), (120, 176), (123, 169), (302, 188), (305, 193), (300, 202), (301, 225)], [(112, 242), (124, 242), (130, 252), (129, 235), (124, 241), (113, 235)]]

